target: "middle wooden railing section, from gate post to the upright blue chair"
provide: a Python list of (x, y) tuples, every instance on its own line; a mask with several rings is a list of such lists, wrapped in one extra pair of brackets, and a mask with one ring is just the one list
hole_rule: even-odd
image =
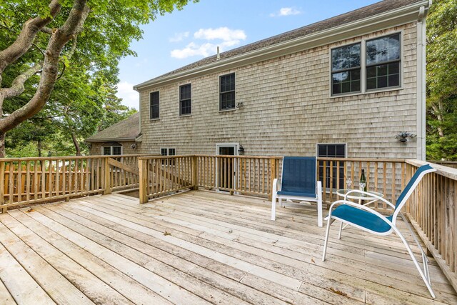
[(140, 157), (140, 201), (198, 187), (268, 196), (281, 160), (279, 156)]

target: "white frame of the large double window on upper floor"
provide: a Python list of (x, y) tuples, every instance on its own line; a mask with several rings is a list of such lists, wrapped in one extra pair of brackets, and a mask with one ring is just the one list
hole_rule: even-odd
[[(330, 48), (328, 50), (328, 71), (329, 71), (329, 80), (328, 80), (328, 96), (331, 99), (338, 99), (338, 97), (343, 97), (343, 96), (358, 96), (361, 94), (371, 94), (371, 93), (377, 93), (377, 92), (386, 92), (386, 91), (396, 91), (396, 90), (401, 90), (403, 89), (403, 84), (404, 84), (404, 62), (405, 62), (405, 56), (404, 56), (404, 33), (403, 29), (400, 31), (389, 31), (387, 33), (383, 33), (378, 36), (373, 36), (373, 37), (364, 37), (363, 39), (360, 39), (358, 41), (350, 41), (346, 44), (341, 44), (339, 46), (334, 46), (333, 48)], [(366, 90), (366, 41), (368, 40), (373, 40), (373, 39), (378, 39), (382, 38), (385, 36), (391, 36), (393, 34), (400, 34), (400, 86), (395, 86), (395, 87), (386, 87), (386, 88), (381, 88), (381, 89), (370, 89)], [(360, 84), (360, 91), (357, 92), (347, 92), (343, 94), (335, 94), (332, 95), (332, 71), (331, 71), (331, 51), (333, 49), (338, 49), (341, 48), (341, 46), (350, 46), (351, 44), (357, 44), (361, 43), (361, 71), (360, 71), (360, 79), (361, 79), (361, 84)], [(319, 143), (321, 144), (321, 143)], [(317, 156), (317, 155), (316, 155)]]

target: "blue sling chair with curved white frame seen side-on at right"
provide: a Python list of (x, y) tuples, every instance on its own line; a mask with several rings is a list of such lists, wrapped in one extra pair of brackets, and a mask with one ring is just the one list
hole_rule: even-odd
[[(416, 189), (416, 186), (418, 186), (422, 177), (433, 171), (436, 171), (436, 169), (433, 169), (433, 167), (431, 167), (428, 164), (419, 167), (416, 173), (411, 178), (411, 180), (406, 185), (405, 189), (403, 189), (403, 191), (401, 192), (400, 196), (398, 196), (395, 205), (391, 204), (391, 202), (387, 201), (386, 199), (383, 199), (380, 196), (366, 193), (364, 191), (357, 191), (360, 193), (366, 193), (373, 198), (385, 202), (388, 206), (390, 206), (393, 209), (393, 213), (390, 216), (383, 216), (382, 214), (378, 213), (374, 209), (369, 208), (366, 205), (356, 204), (354, 202), (347, 201), (346, 199), (333, 202), (333, 204), (331, 204), (330, 206), (330, 209), (328, 210), (328, 216), (326, 217), (327, 230), (326, 239), (323, 244), (322, 261), (325, 261), (326, 259), (328, 232), (330, 231), (330, 225), (335, 220), (340, 221), (338, 239), (341, 239), (341, 230), (343, 229), (343, 223), (346, 225), (355, 226), (358, 229), (362, 229), (363, 231), (367, 231), (369, 233), (376, 235), (388, 235), (395, 232), (400, 237), (401, 241), (403, 241), (403, 244), (405, 245), (408, 254), (411, 256), (411, 259), (413, 259), (414, 265), (416, 266), (419, 274), (421, 275), (423, 282), (426, 284), (428, 291), (430, 291), (431, 296), (435, 298), (435, 294), (431, 289), (430, 274), (428, 273), (427, 256), (423, 251), (421, 244), (419, 244), (418, 240), (416, 239), (415, 234), (413, 234), (413, 231), (411, 230), (411, 226), (408, 224), (408, 221), (406, 221), (403, 214), (401, 214), (401, 208), (403, 208), (403, 206), (406, 204), (406, 201), (408, 200), (409, 196), (411, 196), (414, 189)], [(348, 194), (349, 193), (350, 192), (348, 192)], [(421, 249), (423, 270), (421, 269), (421, 266), (419, 266), (418, 261), (414, 256), (413, 251), (411, 251), (411, 247), (409, 246), (408, 242), (396, 226), (396, 219), (398, 214), (401, 216), (406, 226), (408, 226), (409, 231), (411, 231), (411, 235), (416, 241), (418, 248)]]

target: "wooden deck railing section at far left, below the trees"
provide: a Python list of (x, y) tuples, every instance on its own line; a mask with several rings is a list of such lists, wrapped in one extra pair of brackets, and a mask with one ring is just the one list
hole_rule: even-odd
[(0, 209), (138, 188), (138, 156), (0, 159)]

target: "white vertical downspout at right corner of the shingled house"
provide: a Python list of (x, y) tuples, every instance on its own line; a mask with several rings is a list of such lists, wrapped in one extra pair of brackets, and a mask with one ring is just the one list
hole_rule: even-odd
[[(431, 0), (428, 1), (430, 9)], [(421, 6), (417, 22), (417, 151), (416, 159), (426, 159), (426, 16), (428, 9)]]

